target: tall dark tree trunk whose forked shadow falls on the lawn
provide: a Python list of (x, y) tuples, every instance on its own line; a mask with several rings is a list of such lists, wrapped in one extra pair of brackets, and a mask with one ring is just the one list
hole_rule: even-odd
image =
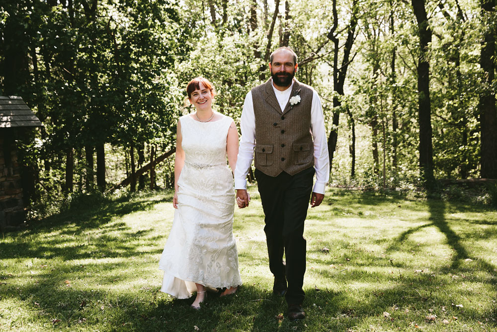
[(419, 171), (427, 190), (434, 186), (433, 146), (431, 143), (431, 102), (429, 89), (428, 51), (431, 43), (431, 29), (423, 0), (411, 0), (416, 16), (419, 34), (419, 59), (417, 64), (418, 124), (419, 124)]

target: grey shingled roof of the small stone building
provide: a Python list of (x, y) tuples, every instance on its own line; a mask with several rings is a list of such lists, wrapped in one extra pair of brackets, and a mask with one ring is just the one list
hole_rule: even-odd
[(0, 128), (39, 127), (42, 125), (21, 97), (0, 96)]

